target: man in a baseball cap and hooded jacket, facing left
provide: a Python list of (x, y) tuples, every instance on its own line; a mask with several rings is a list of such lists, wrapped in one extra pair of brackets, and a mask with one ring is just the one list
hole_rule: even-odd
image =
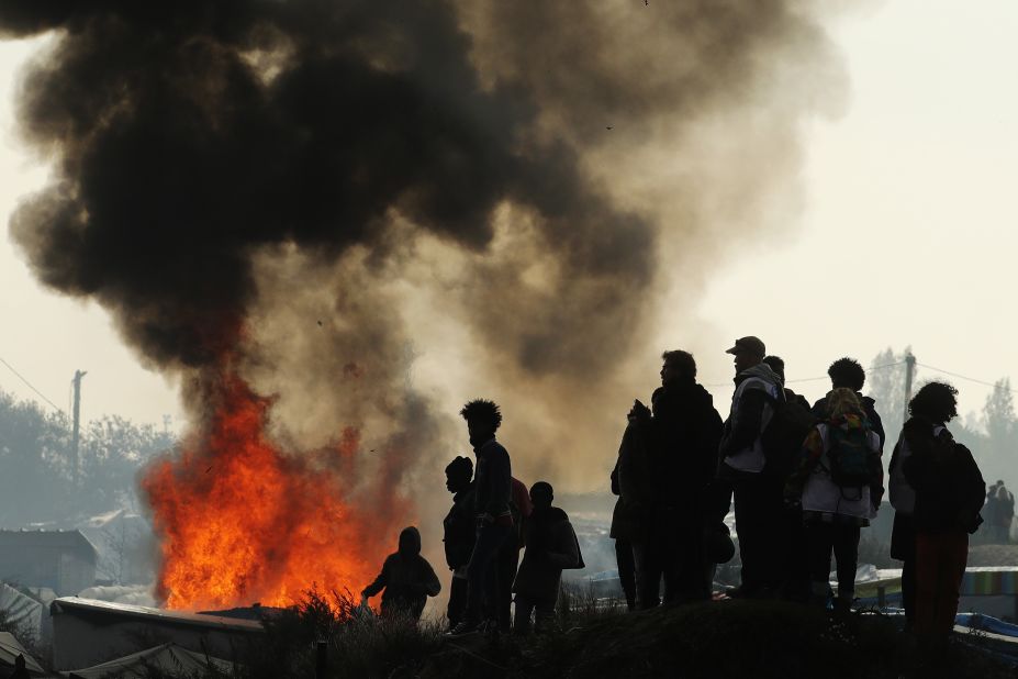
[(737, 597), (773, 595), (781, 588), (784, 556), (783, 479), (762, 474), (767, 461), (762, 434), (774, 415), (773, 403), (784, 399), (780, 377), (763, 363), (767, 347), (747, 336), (727, 349), (735, 357), (735, 393), (718, 449), (718, 476), (731, 483), (735, 496), (736, 534), (742, 560)]

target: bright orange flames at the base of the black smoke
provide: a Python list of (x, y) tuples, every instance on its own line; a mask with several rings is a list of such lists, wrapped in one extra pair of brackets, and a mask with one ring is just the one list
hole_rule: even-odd
[(266, 435), (270, 400), (235, 376), (217, 383), (214, 412), (183, 455), (142, 481), (163, 541), (159, 598), (198, 610), (290, 605), (312, 585), (360, 591), (409, 507), (392, 489), (376, 491), (382, 509), (350, 501), (357, 430), (331, 448), (286, 454)]

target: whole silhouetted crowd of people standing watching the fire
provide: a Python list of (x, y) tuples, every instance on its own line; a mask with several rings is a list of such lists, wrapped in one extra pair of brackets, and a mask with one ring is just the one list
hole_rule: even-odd
[[(696, 382), (692, 354), (682, 350), (662, 355), (661, 387), (649, 407), (636, 400), (627, 415), (611, 475), (618, 496), (611, 536), (629, 610), (712, 599), (717, 565), (735, 554), (725, 523), (734, 505), (741, 571), (726, 598), (848, 611), (860, 532), (876, 516), (886, 480), (906, 624), (925, 643), (940, 643), (953, 627), (969, 535), (983, 521), (984, 499), (1007, 514), (1008, 526), (1014, 513), (1003, 482), (987, 494), (972, 454), (947, 428), (958, 414), (958, 391), (930, 382), (916, 392), (885, 475), (885, 433), (873, 399), (861, 393), (865, 371), (858, 361), (831, 364), (831, 390), (810, 405), (785, 386), (784, 363), (768, 356), (759, 338), (742, 337), (727, 353), (736, 376), (726, 420)], [(460, 414), (477, 461), (457, 457), (446, 468), (449, 634), (526, 633), (532, 624), (539, 631), (553, 621), (562, 570), (583, 567), (575, 532), (552, 505), (549, 483), (527, 492), (513, 478), (495, 436), (499, 407), (474, 400)], [(416, 620), (440, 590), (419, 552), (416, 528), (404, 530), (399, 552), (365, 589), (366, 598), (384, 589), (383, 615)]]

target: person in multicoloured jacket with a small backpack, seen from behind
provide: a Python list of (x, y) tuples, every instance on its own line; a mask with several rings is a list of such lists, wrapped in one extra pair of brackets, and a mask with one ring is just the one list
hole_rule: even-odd
[(786, 501), (802, 507), (812, 601), (827, 606), (830, 556), (838, 561), (835, 610), (848, 612), (855, 594), (860, 527), (876, 516), (884, 494), (880, 436), (851, 389), (834, 389), (828, 415), (803, 444), (785, 485)]

